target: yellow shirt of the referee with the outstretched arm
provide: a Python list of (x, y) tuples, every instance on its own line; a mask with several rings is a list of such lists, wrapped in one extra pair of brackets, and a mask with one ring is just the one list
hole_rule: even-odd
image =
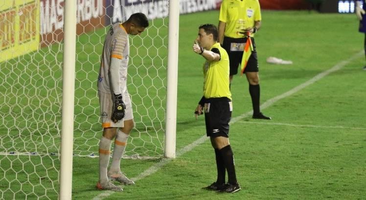
[(206, 61), (204, 64), (204, 97), (206, 99), (227, 97), (231, 100), (228, 53), (218, 42), (210, 50), (213, 48), (219, 49), (221, 58), (217, 61)]

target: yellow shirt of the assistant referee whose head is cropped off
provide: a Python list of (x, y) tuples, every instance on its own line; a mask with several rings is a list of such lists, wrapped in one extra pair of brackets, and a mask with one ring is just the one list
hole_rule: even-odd
[[(243, 38), (241, 29), (254, 27), (254, 21), (262, 20), (258, 0), (223, 0), (219, 20), (226, 23), (224, 35)], [(251, 34), (253, 37), (254, 34)]]

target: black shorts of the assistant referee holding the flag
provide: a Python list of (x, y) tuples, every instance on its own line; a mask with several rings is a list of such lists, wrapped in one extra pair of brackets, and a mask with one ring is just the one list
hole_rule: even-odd
[[(238, 46), (240, 43), (245, 46), (248, 38), (229, 38), (224, 37), (223, 48), (229, 54), (229, 62), (230, 62), (230, 76), (235, 75), (238, 73), (238, 68), (241, 64), (241, 60), (243, 58), (242, 50), (237, 51), (235, 46)], [(252, 39), (253, 51), (251, 57), (249, 57), (247, 67), (244, 69), (244, 73), (246, 72), (258, 72), (258, 59), (257, 59), (257, 52), (255, 50), (255, 42), (254, 38)]]

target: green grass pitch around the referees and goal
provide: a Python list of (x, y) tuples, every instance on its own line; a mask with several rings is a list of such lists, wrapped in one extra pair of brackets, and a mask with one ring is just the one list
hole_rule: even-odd
[[(365, 199), (366, 72), (362, 70), (365, 58), (361, 52), (364, 36), (357, 33), (358, 24), (354, 15), (307, 11), (262, 12), (262, 28), (255, 36), (260, 66), (261, 102), (267, 102), (268, 106), (262, 111), (273, 120), (250, 118), (248, 113), (252, 105), (248, 83), (244, 77), (236, 76), (231, 85), (234, 109), (230, 143), (242, 190), (235, 194), (218, 194), (200, 189), (215, 181), (216, 165), (209, 141), (199, 140), (205, 135), (204, 118), (195, 120), (193, 117), (193, 111), (202, 96), (201, 67), (204, 60), (193, 53), (191, 46), (197, 35), (197, 27), (204, 23), (217, 24), (218, 15), (218, 11), (210, 11), (180, 16), (177, 158), (122, 160), (121, 169), (128, 177), (136, 180), (136, 185), (123, 187), (122, 193), (113, 193), (95, 190), (98, 159), (74, 157), (73, 199)], [(92, 35), (101, 36), (103, 32), (104, 30), (99, 30)], [(162, 33), (164, 34), (166, 33)], [(82, 37), (85, 40), (79, 41), (83, 44), (94, 41), (88, 40), (87, 35)], [(59, 47), (53, 45), (51, 48)], [(100, 52), (102, 47), (99, 44), (95, 48), (95, 52)], [(88, 50), (79, 49), (78, 55), (85, 55), (84, 51)], [(88, 59), (93, 66), (92, 71), (84, 69), (90, 83), (85, 83), (80, 88), (95, 87), (93, 76), (97, 74), (99, 56), (94, 56), (96, 58)], [(294, 64), (268, 64), (266, 58), (269, 56), (292, 60)], [(53, 59), (47, 58), (50, 61)], [(339, 70), (311, 81), (334, 66), (340, 66)], [(161, 73), (163, 71), (161, 69)], [(56, 73), (61, 74), (61, 71)], [(131, 73), (142, 77), (144, 73), (155, 76), (153, 72)], [(163, 85), (159, 82), (165, 80), (154, 81), (156, 85)], [(296, 89), (309, 81), (311, 84)], [(3, 81), (2, 84), (12, 83)], [(47, 84), (52, 84), (52, 81)], [(143, 90), (149, 92), (148, 89)], [(163, 88), (157, 91), (161, 90)], [(288, 91), (293, 93), (283, 95)], [(56, 93), (54, 92), (55, 99), (59, 95)], [(91, 100), (95, 94), (87, 96), (85, 100)], [(274, 99), (276, 97), (279, 98)], [(5, 97), (2, 99), (6, 100)], [(82, 97), (80, 99), (83, 100)], [(82, 106), (79, 107), (76, 109), (82, 109)], [(95, 112), (92, 107), (89, 109)], [(6, 113), (6, 110), (1, 109), (1, 112)], [(80, 121), (81, 128), (92, 124), (97, 129), (97, 119), (85, 116)], [(9, 126), (10, 122), (3, 120), (3, 124)], [(191, 150), (184, 150), (197, 140), (198, 144), (193, 145)], [(3, 143), (10, 145), (2, 139), (1, 144)], [(15, 180), (15, 176), (4, 177), (5, 172), (9, 174), (9, 169), (14, 167), (14, 171), (20, 172), (18, 175), (27, 173), (36, 176), (37, 173), (28, 172), (22, 166), (23, 163), (38, 165), (41, 161), (31, 157), (18, 157), (12, 161), (10, 157), (0, 156), (0, 199), (24, 199), (26, 192), (17, 192), (17, 196), (12, 196), (12, 192), (23, 191), (24, 188), (29, 192), (32, 188), (24, 183), (24, 188), (21, 188), (19, 182), (9, 181)], [(43, 164), (50, 164), (56, 169), (58, 167), (55, 159)], [(45, 167), (45, 172), (39, 173), (55, 171), (52, 167)], [(154, 171), (151, 167), (158, 167), (158, 170), (152, 173)], [(146, 170), (148, 175), (144, 176)], [(54, 172), (48, 176), (57, 179)], [(44, 180), (40, 177), (42, 176), (38, 175), (34, 180)], [(5, 184), (5, 180), (11, 184)], [(24, 178), (23, 181), (27, 183), (30, 180), (32, 177), (28, 180)], [(55, 185), (58, 190), (57, 182), (47, 184)], [(35, 185), (36, 190), (44, 191), (44, 188)], [(57, 194), (52, 190), (48, 191), (48, 195), (50, 199), (57, 199)], [(36, 197), (31, 195), (28, 198)]]

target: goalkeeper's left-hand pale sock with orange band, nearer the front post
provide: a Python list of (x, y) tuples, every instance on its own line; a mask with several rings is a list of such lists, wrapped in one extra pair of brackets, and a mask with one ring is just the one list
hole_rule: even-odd
[(112, 140), (102, 137), (99, 142), (99, 182), (105, 183), (108, 181), (107, 168), (109, 157), (111, 155)]

